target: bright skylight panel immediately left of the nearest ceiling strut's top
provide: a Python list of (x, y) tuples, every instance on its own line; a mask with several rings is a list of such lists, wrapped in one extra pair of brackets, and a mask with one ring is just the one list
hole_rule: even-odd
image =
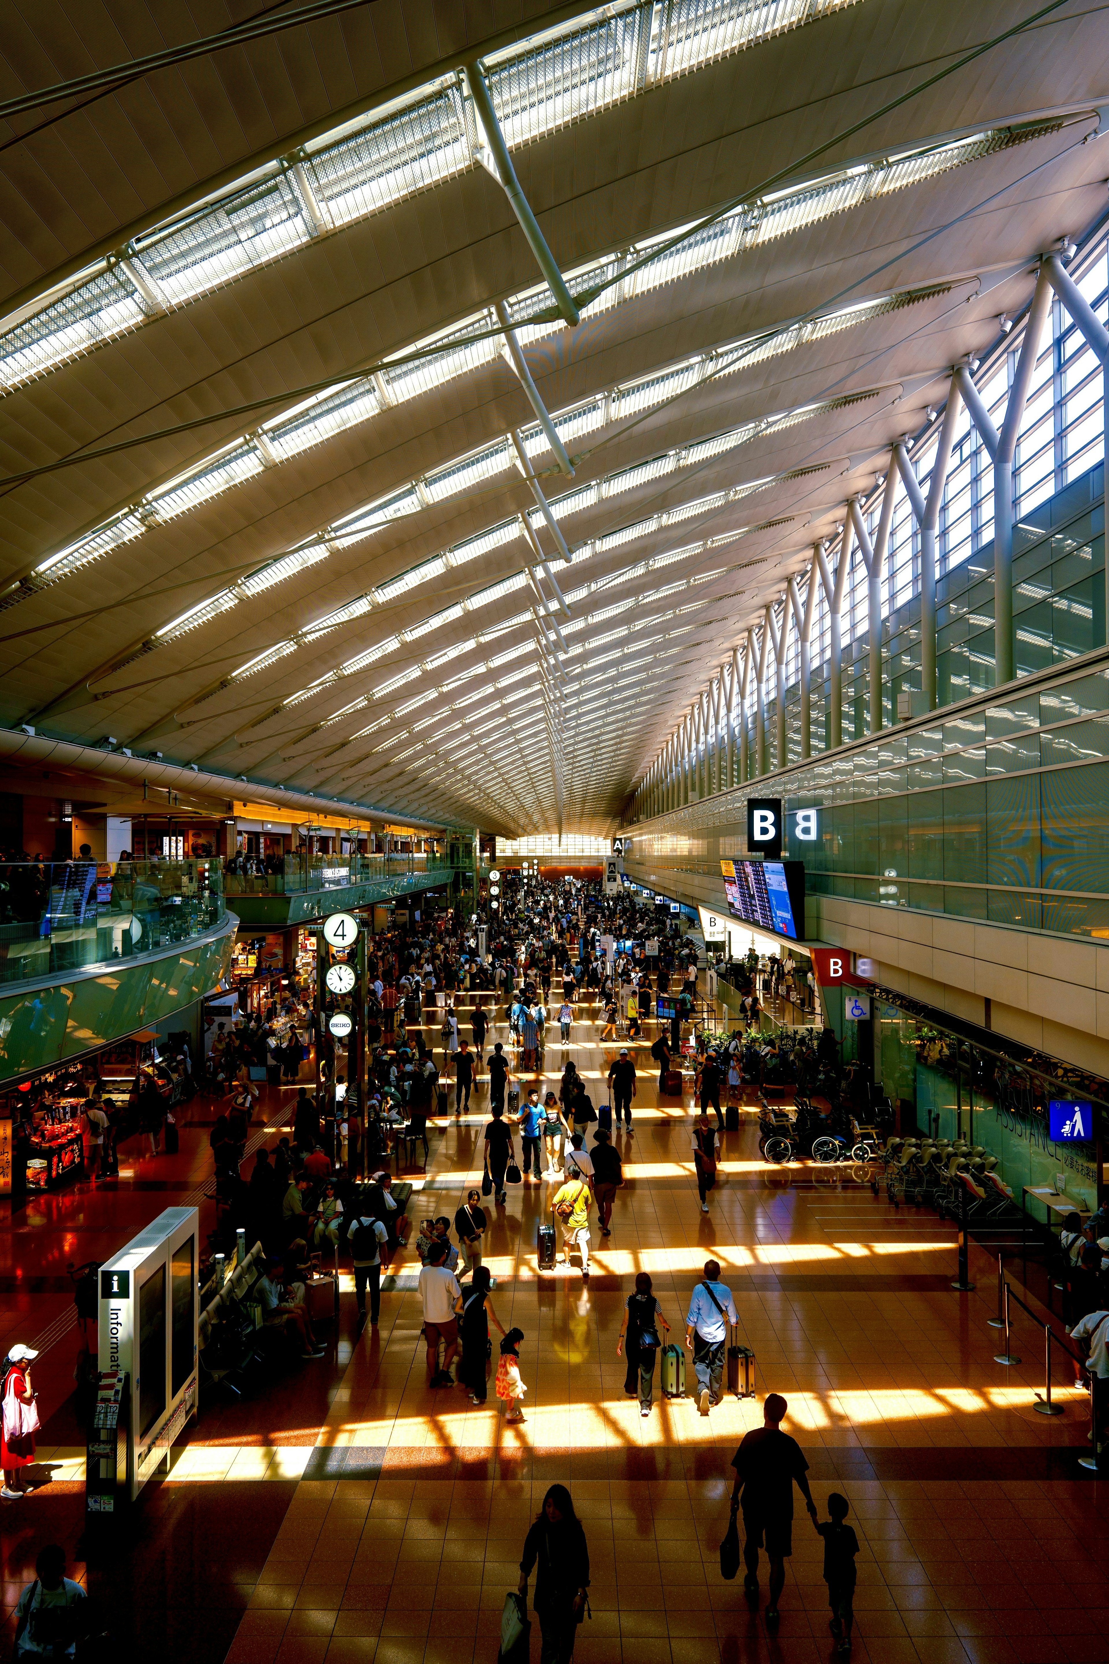
[(454, 83), (338, 143), (309, 148), (306, 171), (333, 225), (349, 225), (472, 165)]

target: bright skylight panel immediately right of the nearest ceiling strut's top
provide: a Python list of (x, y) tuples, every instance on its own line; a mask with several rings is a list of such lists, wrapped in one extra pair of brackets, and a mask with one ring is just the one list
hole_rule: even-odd
[(652, 8), (635, 7), (489, 68), (509, 146), (595, 115), (638, 90)]

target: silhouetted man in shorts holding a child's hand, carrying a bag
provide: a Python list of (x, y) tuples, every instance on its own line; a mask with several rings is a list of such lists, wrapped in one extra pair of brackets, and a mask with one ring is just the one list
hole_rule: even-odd
[[(705, 1266), (708, 1275), (708, 1266)], [(781, 1393), (768, 1393), (763, 1404), (763, 1426), (752, 1428), (743, 1434), (740, 1448), (732, 1458), (735, 1468), (735, 1484), (732, 1486), (732, 1506), (742, 1501), (743, 1506), (743, 1564), (747, 1576), (743, 1587), (748, 1594), (758, 1594), (758, 1551), (766, 1549), (770, 1561), (770, 1606), (765, 1617), (768, 1624), (778, 1622), (778, 1601), (785, 1586), (785, 1562), (793, 1553), (793, 1484), (805, 1498), (813, 1524), (816, 1524), (816, 1504), (808, 1489), (808, 1463), (801, 1454), (801, 1446), (781, 1431), (786, 1404)], [(742, 1498), (740, 1498), (742, 1493)]]

